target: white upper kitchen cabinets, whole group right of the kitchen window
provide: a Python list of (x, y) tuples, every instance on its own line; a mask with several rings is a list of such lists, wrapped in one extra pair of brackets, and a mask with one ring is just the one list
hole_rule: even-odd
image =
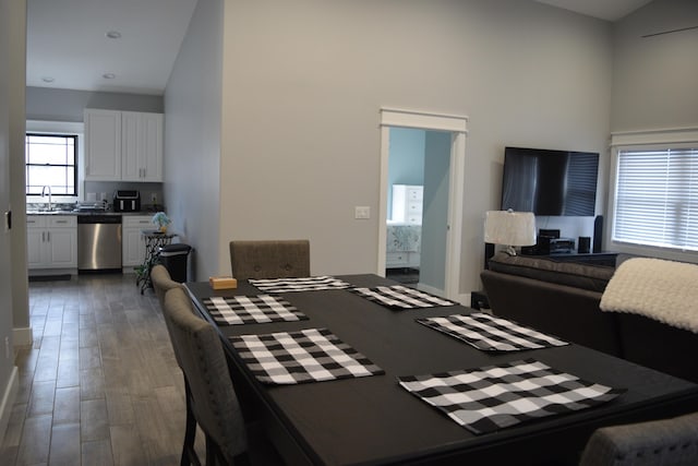
[(163, 181), (163, 115), (85, 110), (85, 179)]

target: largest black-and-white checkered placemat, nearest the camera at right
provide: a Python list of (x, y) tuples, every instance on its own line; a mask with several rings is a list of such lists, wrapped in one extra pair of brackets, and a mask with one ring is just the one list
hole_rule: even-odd
[(476, 434), (586, 409), (626, 391), (583, 381), (533, 359), (401, 377), (398, 382)]

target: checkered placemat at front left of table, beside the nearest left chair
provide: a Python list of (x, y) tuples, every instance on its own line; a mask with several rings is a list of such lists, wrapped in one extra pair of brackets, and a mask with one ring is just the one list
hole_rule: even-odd
[(260, 382), (293, 384), (385, 373), (327, 328), (230, 337)]

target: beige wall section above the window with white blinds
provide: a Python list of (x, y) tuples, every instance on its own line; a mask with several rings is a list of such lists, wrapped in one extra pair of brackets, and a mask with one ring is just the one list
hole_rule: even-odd
[(698, 127), (698, 2), (655, 0), (613, 27), (612, 131)]

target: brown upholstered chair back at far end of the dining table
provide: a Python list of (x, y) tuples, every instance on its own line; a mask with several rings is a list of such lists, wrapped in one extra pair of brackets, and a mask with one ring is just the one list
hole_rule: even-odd
[(310, 276), (310, 241), (230, 241), (232, 276), (246, 278), (293, 278)]

